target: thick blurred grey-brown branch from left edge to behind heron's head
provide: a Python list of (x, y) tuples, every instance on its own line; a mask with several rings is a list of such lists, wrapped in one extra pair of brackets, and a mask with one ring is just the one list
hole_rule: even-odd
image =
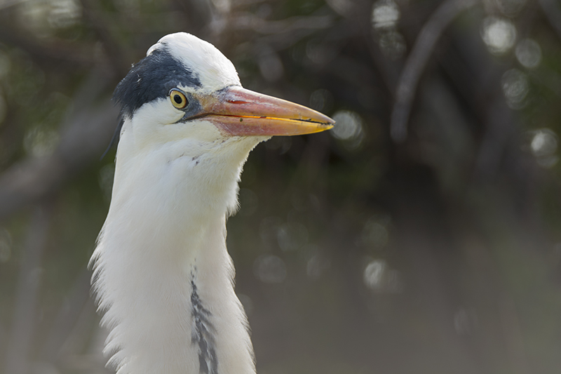
[(74, 111), (61, 128), (60, 144), (42, 159), (29, 156), (0, 175), (0, 220), (56, 192), (70, 175), (97, 161), (116, 126), (118, 111), (105, 100), (93, 102), (110, 79), (94, 72), (74, 98)]

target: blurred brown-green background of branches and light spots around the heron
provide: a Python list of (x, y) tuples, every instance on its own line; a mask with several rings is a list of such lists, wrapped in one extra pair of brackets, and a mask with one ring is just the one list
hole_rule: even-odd
[(259, 373), (560, 372), (560, 0), (1, 0), (1, 373), (107, 373), (109, 100), (177, 31), (337, 120), (242, 175)]

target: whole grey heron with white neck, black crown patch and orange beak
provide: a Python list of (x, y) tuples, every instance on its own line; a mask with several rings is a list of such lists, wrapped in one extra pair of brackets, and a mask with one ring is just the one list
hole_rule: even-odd
[(245, 159), (273, 135), (324, 131), (312, 109), (242, 88), (191, 34), (164, 36), (119, 83), (107, 219), (90, 260), (118, 374), (255, 373), (226, 220)]

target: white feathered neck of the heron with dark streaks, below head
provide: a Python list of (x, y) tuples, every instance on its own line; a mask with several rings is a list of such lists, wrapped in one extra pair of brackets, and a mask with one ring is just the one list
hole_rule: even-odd
[(135, 169), (118, 156), (93, 255), (102, 323), (110, 329), (105, 353), (118, 374), (255, 373), (225, 245), (243, 160), (219, 182), (204, 178), (201, 162), (144, 159)]

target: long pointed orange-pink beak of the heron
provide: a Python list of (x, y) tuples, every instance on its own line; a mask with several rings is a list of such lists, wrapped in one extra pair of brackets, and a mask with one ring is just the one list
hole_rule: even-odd
[(319, 133), (335, 121), (313, 109), (262, 93), (231, 86), (198, 98), (202, 116), (231, 136), (272, 136)]

